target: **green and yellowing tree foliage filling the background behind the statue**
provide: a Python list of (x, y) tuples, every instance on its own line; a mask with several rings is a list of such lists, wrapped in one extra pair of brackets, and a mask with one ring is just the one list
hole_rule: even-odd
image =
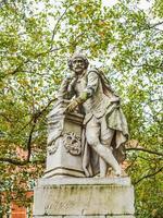
[(136, 0), (112, 7), (100, 0), (0, 2), (0, 177), (7, 202), (22, 198), (43, 172), (46, 114), (68, 73), (67, 58), (80, 47), (122, 97), (130, 140), (138, 142), (126, 149), (137, 217), (161, 218), (162, 11), (159, 0), (148, 12)]

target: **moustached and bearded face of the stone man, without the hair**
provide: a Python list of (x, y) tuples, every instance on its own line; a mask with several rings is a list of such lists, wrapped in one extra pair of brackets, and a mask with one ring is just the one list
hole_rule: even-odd
[(77, 74), (82, 74), (84, 72), (84, 70), (86, 69), (85, 66), (85, 61), (82, 58), (75, 58), (72, 61), (72, 70), (77, 73)]

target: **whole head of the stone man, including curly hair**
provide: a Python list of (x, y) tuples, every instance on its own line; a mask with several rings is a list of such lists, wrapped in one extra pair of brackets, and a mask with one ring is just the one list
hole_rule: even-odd
[(75, 53), (71, 59), (68, 59), (68, 66), (71, 70), (77, 73), (77, 69), (79, 71), (84, 71), (88, 68), (89, 62), (86, 56), (83, 53)]

